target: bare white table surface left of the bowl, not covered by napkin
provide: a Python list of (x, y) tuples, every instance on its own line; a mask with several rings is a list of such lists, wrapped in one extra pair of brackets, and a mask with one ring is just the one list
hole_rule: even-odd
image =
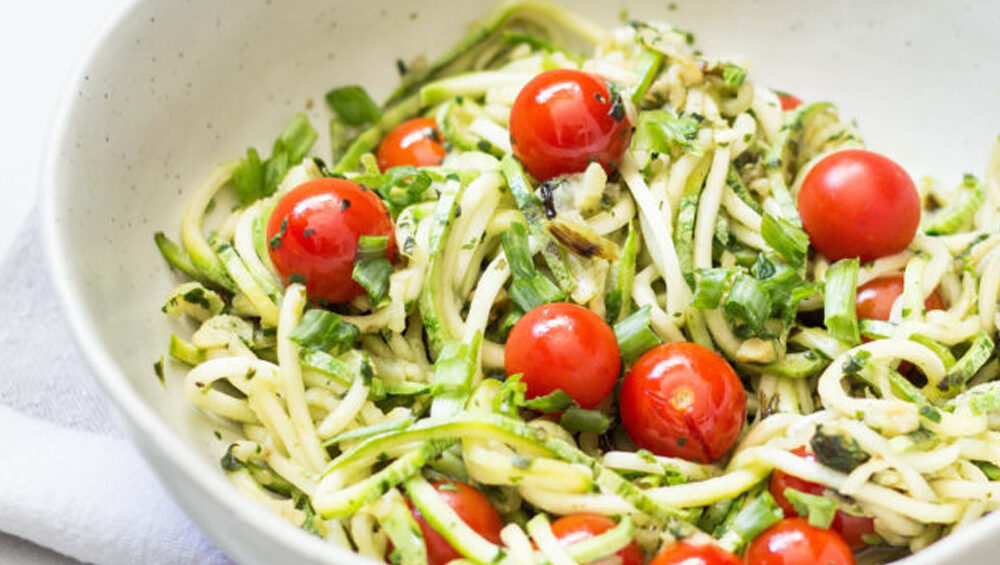
[[(34, 207), (52, 113), (71, 71), (85, 46), (126, 2), (0, 2), (0, 70), (4, 75), (0, 88), (0, 257)], [(0, 534), (0, 563), (77, 562)]]

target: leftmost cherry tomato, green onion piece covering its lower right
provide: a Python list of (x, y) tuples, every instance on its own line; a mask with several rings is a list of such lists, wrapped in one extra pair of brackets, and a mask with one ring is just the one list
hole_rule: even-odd
[(288, 191), (267, 223), (268, 254), (286, 284), (305, 282), (310, 298), (346, 302), (364, 293), (354, 282), (354, 258), (363, 235), (388, 236), (392, 220), (379, 197), (344, 179), (311, 180)]

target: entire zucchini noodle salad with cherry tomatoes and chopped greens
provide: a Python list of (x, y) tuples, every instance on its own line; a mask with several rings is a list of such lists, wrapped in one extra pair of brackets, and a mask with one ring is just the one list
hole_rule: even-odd
[(156, 234), (247, 496), (403, 565), (879, 562), (1000, 504), (1000, 151), (915, 183), (690, 33), (534, 0), (400, 70)]

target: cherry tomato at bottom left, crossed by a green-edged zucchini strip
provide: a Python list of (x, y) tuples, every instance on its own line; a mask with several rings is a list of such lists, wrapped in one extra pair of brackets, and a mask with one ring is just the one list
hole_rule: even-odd
[[(431, 485), (438, 491), (438, 494), (451, 506), (451, 509), (458, 514), (463, 522), (477, 534), (487, 540), (499, 544), (500, 530), (503, 528), (503, 520), (500, 514), (493, 507), (489, 499), (473, 487), (458, 481), (434, 481)], [(407, 501), (409, 502), (409, 501)], [(451, 546), (441, 534), (431, 527), (424, 519), (420, 511), (413, 504), (410, 504), (410, 512), (420, 526), (420, 531), (424, 535), (424, 543), (427, 546), (428, 565), (444, 565), (452, 559), (459, 559), (462, 554)]]

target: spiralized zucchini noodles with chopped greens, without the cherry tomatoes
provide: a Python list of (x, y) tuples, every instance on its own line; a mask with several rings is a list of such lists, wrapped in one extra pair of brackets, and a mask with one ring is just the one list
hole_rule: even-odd
[[(238, 192), (247, 160), (212, 171), (190, 196), (180, 245), (156, 241), (188, 275), (164, 306), (191, 323), (171, 358), (187, 401), (238, 438), (219, 445), (234, 485), (332, 544), (376, 560), (392, 547), (405, 565), (427, 562), (413, 506), (462, 555), (453, 563), (586, 563), (632, 541), (647, 557), (682, 539), (738, 551), (750, 539), (734, 516), (775, 470), (822, 485), (836, 508), (874, 519), (867, 543), (902, 552), (1000, 507), (1000, 146), (981, 179), (918, 187), (908, 248), (847, 265), (845, 279), (844, 261), (788, 241), (807, 240), (794, 204), (804, 176), (863, 147), (855, 127), (825, 102), (782, 110), (779, 93), (688, 37), (658, 23), (609, 32), (547, 3), (507, 2), (407, 74), (367, 125), (335, 123), (346, 137), (334, 139), (333, 167), (269, 160), (280, 176), (252, 197)], [(617, 169), (591, 163), (543, 190), (511, 155), (508, 116), (525, 83), (553, 68), (602, 77), (634, 128)], [(443, 162), (380, 171), (379, 141), (417, 116), (440, 123)], [(275, 151), (294, 154), (295, 135)], [(275, 270), (272, 210), (324, 176), (389, 203), (397, 258), (381, 296), (320, 304)], [(240, 203), (206, 226), (230, 187)], [(515, 232), (524, 249), (512, 251)], [(558, 300), (611, 324), (645, 316), (651, 339), (720, 352), (747, 389), (737, 447), (714, 464), (636, 450), (615, 397), (595, 409), (612, 423), (597, 432), (505, 408), (504, 344), (528, 282), (517, 253)], [(767, 269), (785, 269), (786, 294), (765, 285), (785, 284)], [(884, 277), (903, 281), (888, 320), (833, 311), (844, 280)], [(765, 289), (755, 298), (772, 293), (757, 325), (733, 290), (750, 278)], [(935, 293), (944, 309), (928, 311)], [(807, 445), (815, 459), (792, 452)], [(506, 522), (499, 540), (447, 504), (430, 482), (445, 478), (482, 487)], [(550, 517), (578, 512), (616, 525), (565, 545)]]

